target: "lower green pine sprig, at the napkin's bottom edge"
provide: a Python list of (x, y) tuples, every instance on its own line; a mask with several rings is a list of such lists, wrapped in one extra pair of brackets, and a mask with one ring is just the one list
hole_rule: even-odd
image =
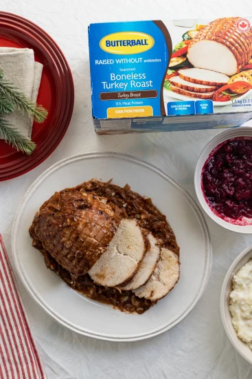
[(27, 155), (32, 154), (36, 148), (36, 143), (24, 137), (13, 125), (0, 116), (0, 138), (4, 139), (18, 152), (24, 152)]

